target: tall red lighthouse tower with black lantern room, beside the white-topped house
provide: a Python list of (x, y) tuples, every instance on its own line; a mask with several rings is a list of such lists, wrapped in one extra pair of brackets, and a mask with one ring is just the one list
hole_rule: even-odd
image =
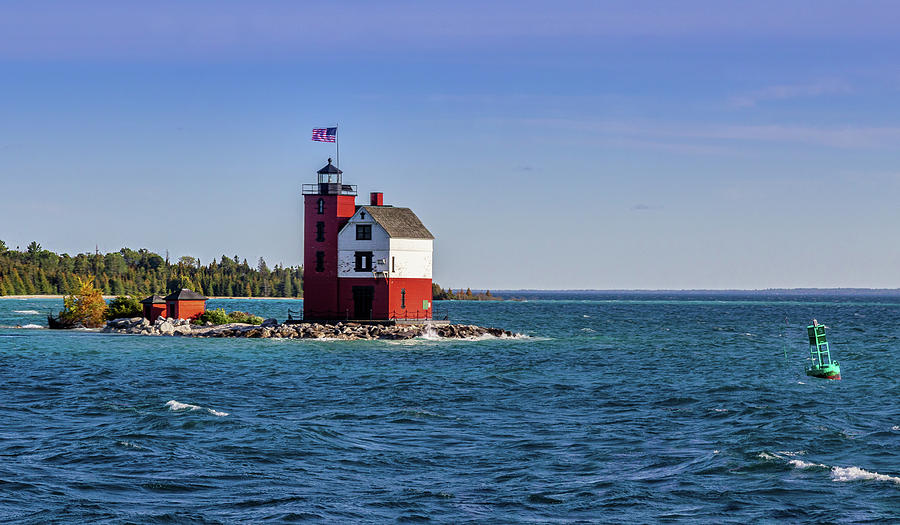
[(331, 164), (303, 185), (303, 318), (345, 317), (338, 305), (338, 232), (356, 212), (356, 186)]

